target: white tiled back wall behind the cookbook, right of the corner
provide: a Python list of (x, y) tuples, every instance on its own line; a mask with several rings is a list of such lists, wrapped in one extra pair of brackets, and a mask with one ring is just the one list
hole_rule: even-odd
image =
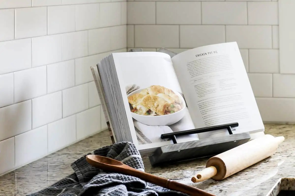
[(295, 122), (295, 74), (280, 70), (278, 18), (271, 0), (128, 1), (127, 47), (181, 52), (237, 41), (263, 120)]

